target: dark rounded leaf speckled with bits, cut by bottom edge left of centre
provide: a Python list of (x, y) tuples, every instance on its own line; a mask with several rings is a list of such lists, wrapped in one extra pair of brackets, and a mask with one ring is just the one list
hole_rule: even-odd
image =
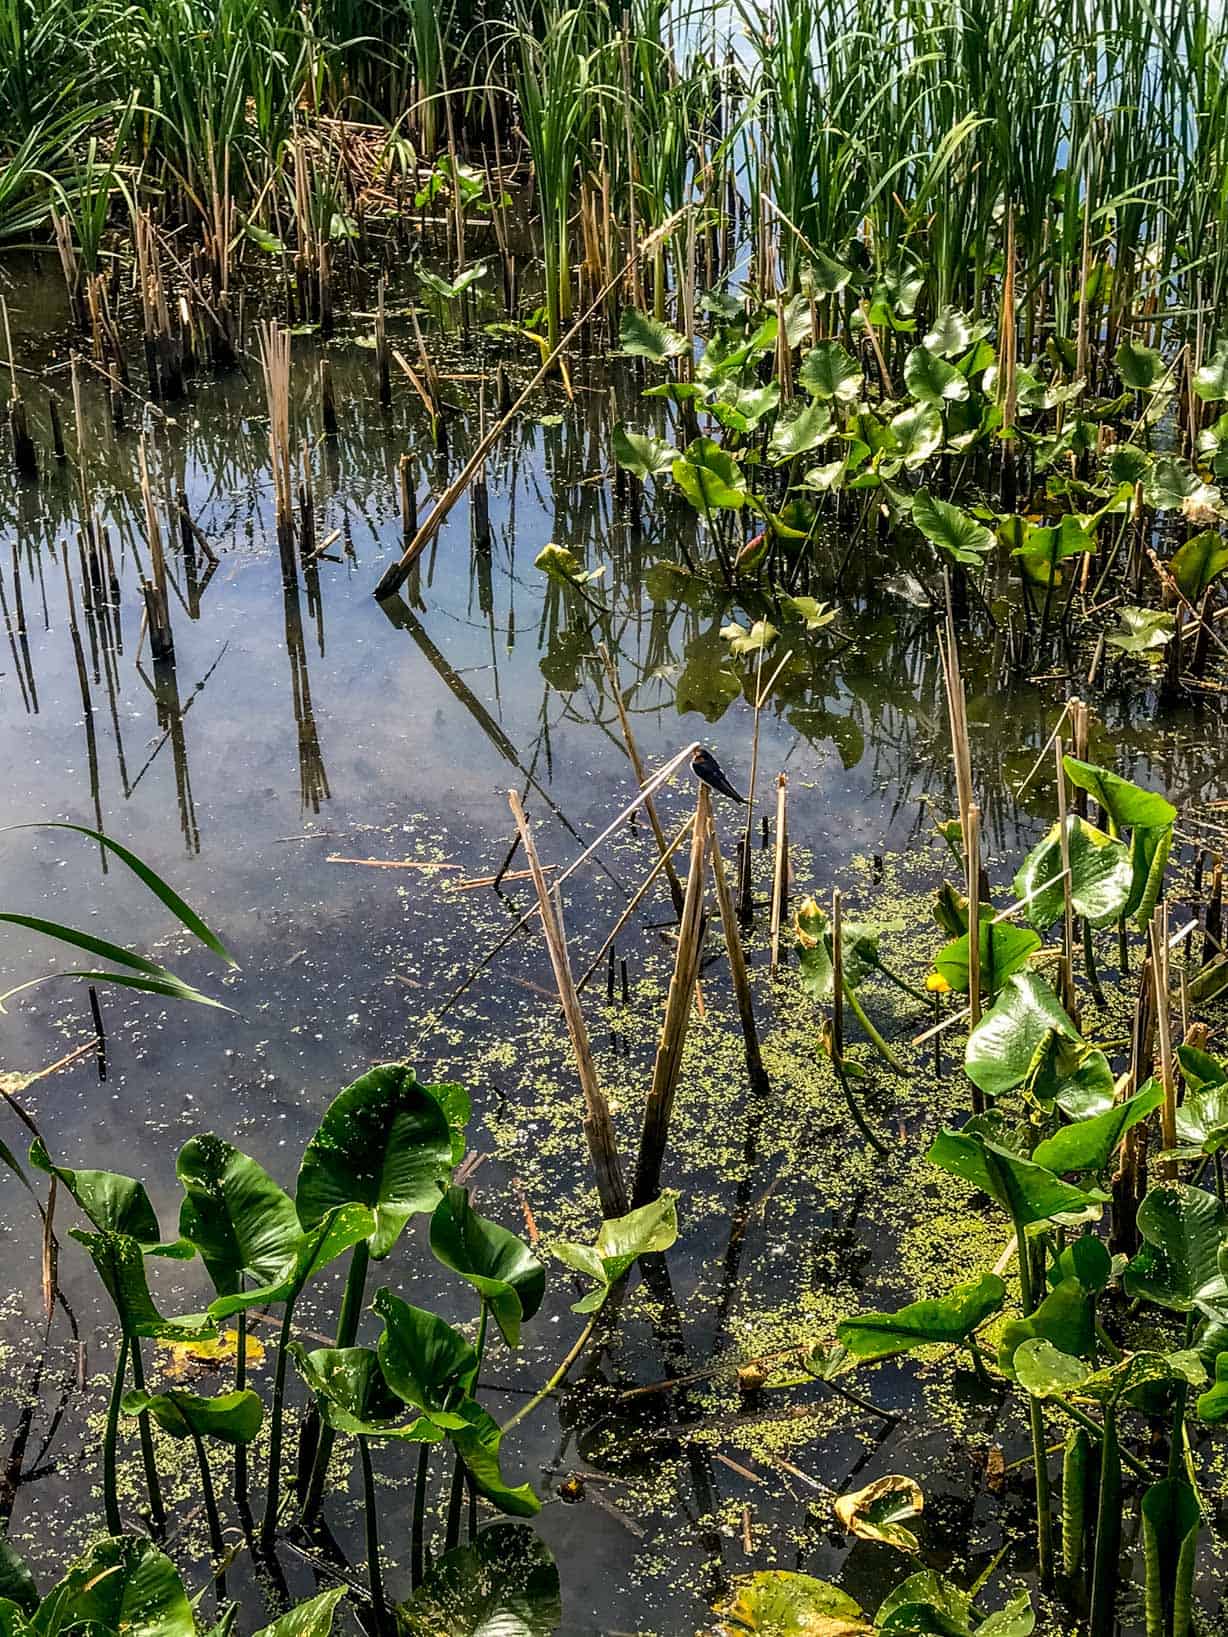
[(550, 1549), (527, 1524), (508, 1522), (437, 1558), (396, 1608), (401, 1637), (552, 1637), (562, 1619)]

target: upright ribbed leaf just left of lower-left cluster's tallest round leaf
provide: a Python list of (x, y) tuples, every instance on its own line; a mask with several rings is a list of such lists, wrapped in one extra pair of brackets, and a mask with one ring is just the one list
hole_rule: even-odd
[(275, 1283), (293, 1267), (303, 1228), (295, 1202), (254, 1159), (219, 1136), (193, 1136), (175, 1162), (178, 1231), (200, 1251), (219, 1297), (244, 1280)]

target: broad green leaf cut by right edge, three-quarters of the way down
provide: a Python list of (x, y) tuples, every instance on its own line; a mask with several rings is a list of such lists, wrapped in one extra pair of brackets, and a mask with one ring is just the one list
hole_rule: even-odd
[(1122, 1275), (1126, 1295), (1177, 1313), (1228, 1313), (1228, 1282), (1218, 1262), (1228, 1211), (1213, 1193), (1185, 1182), (1158, 1184), (1138, 1206), (1138, 1233), (1143, 1247)]

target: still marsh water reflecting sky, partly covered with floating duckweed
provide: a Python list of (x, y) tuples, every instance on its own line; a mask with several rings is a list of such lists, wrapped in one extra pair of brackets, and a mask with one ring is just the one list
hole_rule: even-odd
[[(69, 401), (69, 316), (57, 280), (28, 264), (8, 268), (16, 359)], [(395, 304), (395, 303), (393, 303)], [(404, 327), (396, 321), (398, 337)], [(529, 907), (524, 881), (457, 891), (496, 873), (512, 835), (508, 789), (524, 797), (547, 863), (575, 858), (627, 802), (634, 779), (596, 648), (614, 648), (640, 751), (660, 764), (694, 738), (735, 784), (750, 763), (755, 661), (730, 655), (720, 627), (748, 622), (714, 591), (660, 563), (679, 561), (691, 527), (648, 501), (642, 517), (616, 498), (609, 390), (627, 413), (637, 381), (603, 359), (573, 370), (575, 398), (544, 388), (490, 465), (491, 539), (473, 547), (467, 503), (440, 530), (421, 573), (393, 604), (372, 588), (400, 552), (398, 458), (413, 457), (422, 507), (463, 460), (480, 414), (480, 377), (508, 357), (527, 378), (534, 359), (473, 327), (440, 337), (437, 362), (457, 409), (450, 449), (436, 452), (408, 381), (377, 403), (368, 324), (350, 319), (327, 344), (341, 429), (319, 435), (314, 336), (295, 337), (298, 434), (308, 442), (316, 539), (341, 530), (296, 584), (283, 584), (272, 529), (267, 411), (259, 367), (244, 359), (224, 378), (200, 375), (185, 401), (142, 406), (139, 336), (134, 395), (116, 431), (100, 381), (85, 372), (88, 473), (110, 530), (120, 584), (115, 629), (80, 602), (75, 532), (75, 435), (69, 462), (44, 460), (38, 485), (0, 486), (0, 823), (67, 820), (133, 846), (226, 940), (241, 969), (226, 976), (84, 837), (7, 830), (0, 904), (97, 930), (154, 951), (218, 995), (229, 1012), (102, 990), (105, 1079), (93, 1056), (25, 1094), (54, 1152), (141, 1177), (164, 1228), (177, 1210), (175, 1152), (196, 1131), (229, 1136), (293, 1184), (298, 1154), (329, 1098), (373, 1061), (408, 1058), (424, 1079), (470, 1087), (475, 1118), (467, 1175), (480, 1208), (517, 1231), (589, 1238), (596, 1197), (580, 1131), (581, 1100), (552, 1000), (550, 967), (530, 931), (447, 1005), (481, 954)], [(403, 344), (398, 339), (398, 345)], [(44, 395), (28, 388), (46, 445)], [(485, 404), (493, 413), (493, 403)], [(632, 413), (635, 413), (632, 409)], [(139, 570), (147, 560), (136, 442), (144, 424), (152, 485), (175, 589), (174, 666), (154, 668), (141, 637)], [(183, 553), (169, 501), (183, 489), (216, 566)], [(607, 611), (562, 593), (534, 568), (547, 542), (586, 568)], [(832, 539), (827, 598), (833, 625), (789, 630), (765, 660), (792, 660), (765, 707), (760, 743), (755, 879), (766, 897), (760, 815), (774, 814), (778, 773), (789, 781), (792, 894), (840, 886), (894, 940), (914, 981), (941, 941), (923, 894), (941, 881), (933, 820), (953, 810), (953, 779), (935, 619), (935, 576), (868, 535), (847, 552)], [(77, 601), (79, 647), (67, 619), (64, 561)], [(837, 579), (838, 573), (838, 579)], [(927, 593), (927, 584), (930, 593)], [(1000, 679), (987, 622), (966, 647), (973, 689), (974, 776), (989, 820), (995, 879), (1007, 879), (1051, 817), (1048, 768), (1015, 797), (1061, 702), (1079, 691), (1063, 666), (1041, 679)], [(1228, 794), (1217, 696), (1161, 709), (1143, 666), (1122, 665), (1095, 696), (1094, 753), (1166, 791), (1202, 817), (1182, 837), (1218, 846), (1213, 802)], [(693, 802), (683, 778), (661, 800), (666, 832)], [(720, 809), (734, 855), (740, 810)], [(601, 945), (627, 892), (652, 863), (647, 828), (625, 827), (599, 866), (568, 884), (567, 922), (578, 969)], [(363, 863), (365, 861), (365, 863)], [(375, 863), (370, 863), (375, 861)], [(431, 866), (431, 868), (380, 868)], [(512, 869), (522, 859), (512, 859)], [(606, 969), (586, 990), (598, 1067), (630, 1144), (637, 1131), (671, 948), (668, 897), (650, 895), (617, 945), (612, 1000)], [(506, 1463), (545, 1499), (537, 1522), (560, 1563), (563, 1630), (693, 1632), (729, 1578), (752, 1567), (799, 1567), (840, 1576), (873, 1608), (897, 1576), (886, 1547), (835, 1527), (830, 1501), (851, 1481), (912, 1473), (927, 1491), (923, 1552), (971, 1583), (1007, 1547), (1002, 1585), (1032, 1572), (1014, 1524), (1023, 1491), (991, 1493), (987, 1450), (1022, 1450), (1022, 1427), (981, 1395), (971, 1375), (951, 1393), (915, 1364), (881, 1367), (858, 1387), (897, 1414), (884, 1421), (815, 1387), (738, 1395), (738, 1362), (797, 1339), (830, 1339), (856, 1306), (889, 1306), (927, 1278), (984, 1265), (997, 1229), (950, 1206), (951, 1190), (923, 1166), (925, 1136), (958, 1089), (927, 1079), (928, 1051), (904, 1080), (878, 1077), (876, 1118), (897, 1151), (876, 1161), (847, 1130), (825, 1084), (817, 1018), (788, 982), (768, 984), (766, 912), (750, 945), (771, 1092), (752, 1097), (724, 969), (706, 974), (679, 1094), (666, 1182), (678, 1190), (681, 1234), (657, 1277), (637, 1285), (616, 1331), (581, 1364), (565, 1393), (524, 1423)], [(69, 964), (8, 930), (5, 987)], [(447, 1008), (445, 1008), (447, 1007)], [(440, 1010), (444, 1015), (440, 1017)], [(878, 1012), (901, 1041), (927, 1023), (904, 997)], [(5, 1071), (51, 1064), (88, 1039), (87, 990), (47, 984), (8, 1003)], [(912, 1061), (912, 1059), (910, 1059)], [(958, 1067), (958, 1062), (955, 1062)], [(946, 1067), (953, 1067), (948, 1054)], [(923, 1071), (923, 1072), (922, 1072)], [(951, 1076), (953, 1079), (953, 1076)], [(16, 1141), (21, 1133), (7, 1133)], [(950, 1182), (950, 1179), (946, 1179)], [(915, 1210), (925, 1205), (925, 1220)], [(5, 1395), (16, 1421), (28, 1357), (39, 1334), (39, 1234), (13, 1180), (3, 1190)], [(946, 1213), (946, 1215), (943, 1215)], [(16, 1493), (13, 1537), (46, 1576), (95, 1526), (98, 1427), (113, 1334), (92, 1274), (65, 1241), (61, 1265), (84, 1359), (52, 1351), (43, 1393), (65, 1416), (36, 1477)], [(388, 1280), (409, 1300), (472, 1318), (440, 1277), (421, 1229), (372, 1288)], [(157, 1274), (169, 1311), (205, 1303), (190, 1269)], [(463, 1287), (462, 1287), (463, 1288)], [(303, 1323), (327, 1328), (326, 1283)], [(581, 1321), (580, 1295), (558, 1265), (521, 1354), (493, 1352), (483, 1396), (503, 1419), (545, 1380)], [(85, 1388), (74, 1382), (84, 1362)], [(684, 1377), (670, 1390), (632, 1393)], [(630, 1396), (624, 1396), (630, 1393)], [(943, 1431), (923, 1411), (945, 1393)], [(43, 1429), (46, 1416), (38, 1423)], [(41, 1431), (38, 1434), (41, 1437)], [(134, 1447), (134, 1445), (131, 1445)], [(129, 1455), (131, 1455), (129, 1447)], [(31, 1465), (28, 1462), (28, 1465)], [(380, 1460), (385, 1544), (404, 1591), (404, 1463)], [(565, 1503), (558, 1483), (585, 1473)], [(174, 1490), (174, 1485), (172, 1485)], [(190, 1493), (185, 1478), (182, 1495)], [(329, 1522), (362, 1558), (357, 1514), (344, 1491)], [(200, 1526), (196, 1519), (188, 1527)], [(203, 1539), (200, 1542), (205, 1545)], [(750, 1549), (750, 1550), (748, 1550)], [(1213, 1563), (1213, 1547), (1208, 1547)], [(296, 1590), (313, 1565), (288, 1555)], [(242, 1575), (242, 1567), (237, 1570)], [(1210, 1575), (1205, 1601), (1215, 1608)], [(246, 1594), (259, 1603), (254, 1583)]]

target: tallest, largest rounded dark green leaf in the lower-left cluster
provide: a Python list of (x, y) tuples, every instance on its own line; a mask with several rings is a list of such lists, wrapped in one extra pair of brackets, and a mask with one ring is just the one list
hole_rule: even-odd
[(434, 1210), (450, 1174), (452, 1130), (439, 1100), (413, 1069), (385, 1062), (329, 1103), (303, 1152), (295, 1200), (305, 1228), (337, 1205), (367, 1205), (378, 1260), (411, 1216)]

